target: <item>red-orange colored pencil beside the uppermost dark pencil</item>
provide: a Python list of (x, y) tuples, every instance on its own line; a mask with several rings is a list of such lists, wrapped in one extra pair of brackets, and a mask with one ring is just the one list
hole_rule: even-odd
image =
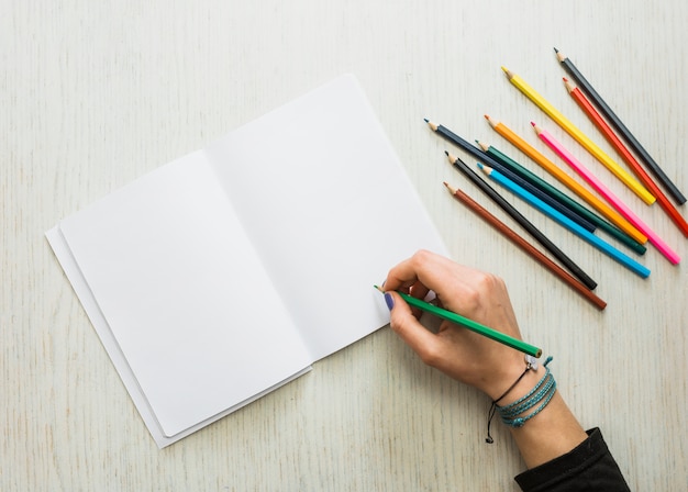
[(664, 192), (655, 185), (652, 178), (645, 172), (641, 165), (635, 160), (633, 154), (623, 145), (621, 139), (613, 132), (611, 126), (602, 119), (600, 113), (597, 112), (595, 107), (588, 101), (584, 93), (577, 87), (574, 87), (566, 78), (564, 78), (564, 85), (566, 90), (574, 98), (576, 103), (586, 113), (586, 115), (595, 123), (595, 126), (604, 135), (604, 138), (617, 149), (623, 160), (631, 167), (637, 179), (655, 195), (659, 206), (669, 215), (678, 228), (684, 233), (684, 236), (688, 237), (688, 222), (678, 213), (676, 208), (669, 202)]

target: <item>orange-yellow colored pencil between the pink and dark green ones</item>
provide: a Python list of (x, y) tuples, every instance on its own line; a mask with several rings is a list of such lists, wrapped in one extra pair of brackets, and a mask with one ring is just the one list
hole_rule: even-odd
[(572, 190), (582, 200), (593, 206), (598, 212), (600, 212), (604, 217), (607, 217), (611, 223), (613, 223), (621, 231), (626, 233), (633, 239), (639, 242), (640, 244), (647, 243), (647, 237), (640, 232), (633, 224), (626, 221), (619, 212), (608, 205), (604, 201), (597, 198), (590, 191), (585, 189), (581, 185), (579, 185), (576, 180), (574, 180), (570, 176), (568, 176), (562, 168), (547, 159), (544, 155), (542, 155), (535, 147), (530, 145), (523, 138), (521, 138), (514, 131), (509, 128), (502, 122), (499, 122), (487, 114), (485, 119), (488, 121), (492, 130), (503, 136), (507, 141), (509, 141), (514, 147), (530, 157), (535, 164), (542, 167), (544, 170), (550, 172), (554, 178), (556, 178), (562, 185)]

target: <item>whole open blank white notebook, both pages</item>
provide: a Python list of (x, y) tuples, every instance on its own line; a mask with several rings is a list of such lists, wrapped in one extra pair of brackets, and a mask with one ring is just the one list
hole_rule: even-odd
[(349, 75), (46, 235), (159, 447), (386, 325), (373, 284), (445, 251)]

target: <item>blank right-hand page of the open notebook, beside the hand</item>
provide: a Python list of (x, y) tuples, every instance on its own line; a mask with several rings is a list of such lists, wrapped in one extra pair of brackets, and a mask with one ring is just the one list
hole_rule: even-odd
[(390, 267), (446, 254), (353, 76), (207, 150), (315, 360), (389, 322), (373, 284)]

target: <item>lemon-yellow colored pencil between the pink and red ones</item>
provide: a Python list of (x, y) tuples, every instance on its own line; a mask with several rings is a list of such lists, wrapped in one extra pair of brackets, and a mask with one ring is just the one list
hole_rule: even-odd
[(519, 89), (528, 99), (533, 101), (541, 110), (543, 110), (556, 124), (573, 136), (580, 145), (585, 147), (595, 158), (602, 163), (610, 171), (612, 171), (617, 178), (619, 178), (626, 187), (629, 187), (635, 194), (640, 197), (648, 205), (655, 202), (655, 197), (643, 187), (631, 174), (619, 166), (614, 159), (612, 159), (604, 150), (602, 150), (595, 142), (586, 136), (576, 125), (574, 125), (564, 114), (562, 114), (556, 108), (554, 108), (546, 99), (529, 86), (518, 75), (513, 74), (504, 67), (501, 69), (507, 74), (509, 81)]

